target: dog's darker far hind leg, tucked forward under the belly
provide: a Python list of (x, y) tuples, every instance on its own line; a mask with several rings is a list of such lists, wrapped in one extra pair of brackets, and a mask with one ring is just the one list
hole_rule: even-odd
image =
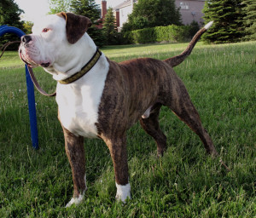
[(160, 129), (159, 125), (159, 114), (160, 104), (152, 107), (148, 118), (140, 118), (140, 123), (143, 129), (154, 138), (157, 145), (157, 156), (162, 156), (166, 151), (166, 135)]

